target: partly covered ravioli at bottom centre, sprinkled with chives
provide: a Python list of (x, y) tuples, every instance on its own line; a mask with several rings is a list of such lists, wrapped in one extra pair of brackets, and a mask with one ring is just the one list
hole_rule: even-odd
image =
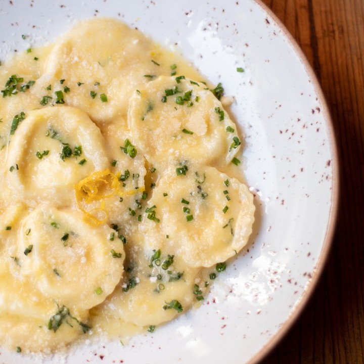
[(159, 325), (191, 307), (200, 268), (186, 266), (180, 256), (169, 253), (158, 247), (141, 249), (125, 262), (125, 276), (115, 294), (92, 312), (103, 317), (101, 325)]

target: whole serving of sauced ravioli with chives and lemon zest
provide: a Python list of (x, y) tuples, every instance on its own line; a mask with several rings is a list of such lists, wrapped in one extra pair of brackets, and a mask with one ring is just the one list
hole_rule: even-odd
[(255, 211), (222, 85), (113, 19), (0, 85), (0, 345), (125, 341), (203, 304)]

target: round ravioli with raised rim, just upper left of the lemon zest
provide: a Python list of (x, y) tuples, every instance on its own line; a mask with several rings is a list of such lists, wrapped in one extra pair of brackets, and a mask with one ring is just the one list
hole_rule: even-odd
[[(12, 200), (72, 202), (73, 186), (109, 166), (100, 129), (70, 107), (34, 110), (18, 121), (7, 156), (6, 183)], [(6, 198), (6, 197), (5, 197)]]

